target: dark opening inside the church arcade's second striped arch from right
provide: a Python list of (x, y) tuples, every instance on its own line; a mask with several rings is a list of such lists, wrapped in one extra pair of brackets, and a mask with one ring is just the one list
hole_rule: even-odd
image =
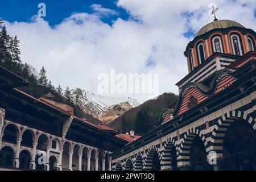
[(191, 144), (190, 164), (191, 170), (212, 170), (212, 166), (207, 161), (207, 152), (205, 151), (203, 140), (198, 135), (193, 138)]

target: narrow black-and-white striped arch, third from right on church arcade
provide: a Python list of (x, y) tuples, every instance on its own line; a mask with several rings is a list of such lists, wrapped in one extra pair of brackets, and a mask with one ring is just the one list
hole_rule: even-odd
[[(174, 156), (172, 156), (172, 150), (175, 149), (176, 156), (178, 155), (178, 148), (176, 145), (176, 141), (172, 138), (168, 138), (164, 143), (163, 153), (162, 153), (162, 170), (170, 169), (172, 167), (172, 160)], [(175, 157), (176, 157), (175, 156)]]

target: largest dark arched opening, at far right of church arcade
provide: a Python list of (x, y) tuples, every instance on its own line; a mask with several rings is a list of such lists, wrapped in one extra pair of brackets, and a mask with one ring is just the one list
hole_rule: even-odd
[(256, 133), (249, 123), (237, 119), (226, 130), (222, 170), (256, 170)]

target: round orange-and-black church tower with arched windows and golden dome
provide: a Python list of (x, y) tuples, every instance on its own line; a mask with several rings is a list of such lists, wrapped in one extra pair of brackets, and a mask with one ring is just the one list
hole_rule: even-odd
[(179, 90), (187, 82), (200, 82), (226, 68), (247, 52), (256, 51), (256, 33), (233, 20), (218, 20), (201, 28), (188, 43), (184, 55), (188, 72), (177, 82)]

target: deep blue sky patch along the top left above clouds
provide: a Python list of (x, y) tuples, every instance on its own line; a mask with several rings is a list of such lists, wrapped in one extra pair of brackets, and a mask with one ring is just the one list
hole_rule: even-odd
[(125, 20), (129, 18), (125, 9), (117, 7), (117, 0), (1, 0), (0, 16), (9, 22), (30, 22), (31, 17), (38, 14), (38, 4), (41, 2), (46, 4), (47, 16), (44, 19), (51, 26), (61, 23), (73, 13), (93, 14), (92, 5), (101, 5), (103, 8), (117, 12), (117, 14), (101, 17), (105, 23), (113, 24), (117, 18)]

